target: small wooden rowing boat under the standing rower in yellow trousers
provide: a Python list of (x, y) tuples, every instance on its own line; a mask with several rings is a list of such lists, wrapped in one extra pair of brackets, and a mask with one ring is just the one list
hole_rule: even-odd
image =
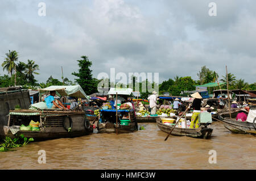
[[(174, 125), (167, 125), (163, 124), (162, 120), (160, 118), (156, 119), (156, 124), (158, 125), (158, 128), (166, 133), (170, 133), (171, 129), (174, 127)], [(207, 125), (204, 127), (199, 127), (196, 129), (190, 129), (190, 128), (174, 128), (172, 131), (172, 135), (174, 136), (189, 136), (193, 138), (209, 138), (212, 135), (213, 129), (208, 128)]]

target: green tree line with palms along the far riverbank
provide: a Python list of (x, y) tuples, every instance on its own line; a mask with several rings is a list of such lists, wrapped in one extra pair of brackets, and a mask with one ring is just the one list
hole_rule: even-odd
[[(34, 74), (39, 74), (39, 65), (35, 64), (34, 60), (27, 60), (27, 64), (19, 61), (18, 52), (15, 50), (9, 50), (5, 54), (5, 58), (2, 63), (3, 70), (7, 70), (9, 75), (5, 74), (0, 76), (0, 87), (9, 87), (14, 85), (23, 86), (24, 89), (33, 89), (35, 86), (45, 88), (48, 86), (62, 86), (62, 85), (77, 85), (79, 84), (87, 95), (98, 92), (97, 87), (100, 82), (104, 79), (97, 79), (93, 77), (92, 70), (92, 61), (89, 61), (89, 58), (86, 56), (81, 56), (81, 60), (77, 60), (79, 70), (78, 72), (73, 72), (72, 75), (75, 75), (75, 81), (72, 82), (68, 78), (63, 78), (63, 81), (53, 78), (52, 75), (44, 83), (38, 83), (35, 79)], [(106, 80), (109, 83), (109, 87), (133, 87), (135, 90), (135, 85), (139, 85), (139, 92), (141, 92), (142, 98), (147, 98), (147, 95), (150, 94), (150, 90), (146, 92), (142, 91), (143, 85), (150, 85), (152, 89), (154, 86), (159, 86), (159, 94), (168, 92), (170, 95), (186, 95), (184, 91), (193, 91), (195, 90), (196, 85), (204, 85), (205, 83), (210, 82), (226, 82), (226, 76), (220, 78), (216, 71), (209, 70), (206, 66), (202, 66), (199, 73), (197, 73), (198, 79), (193, 80), (191, 77), (174, 77), (174, 79), (169, 78), (167, 81), (163, 81), (159, 85), (155, 82), (150, 82), (148, 79), (145, 81), (138, 80), (138, 77), (134, 75), (130, 77), (131, 85), (113, 85), (109, 80)], [(240, 89), (240, 90), (256, 90), (255, 83), (247, 83), (242, 78), (237, 78), (234, 74), (228, 73), (229, 89)], [(219, 87), (216, 87), (217, 89)], [(221, 89), (226, 89), (226, 85), (222, 85)], [(209, 92), (212, 93), (213, 89), (209, 89)]]

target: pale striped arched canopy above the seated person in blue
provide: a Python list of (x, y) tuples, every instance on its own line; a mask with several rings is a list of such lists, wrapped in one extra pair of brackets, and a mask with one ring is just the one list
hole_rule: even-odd
[(74, 98), (86, 98), (89, 100), (88, 96), (85, 94), (84, 90), (80, 85), (75, 86), (49, 86), (44, 89), (38, 89), (39, 92), (45, 93), (49, 91), (56, 91), (56, 94), (59, 93), (61, 96), (71, 96)]

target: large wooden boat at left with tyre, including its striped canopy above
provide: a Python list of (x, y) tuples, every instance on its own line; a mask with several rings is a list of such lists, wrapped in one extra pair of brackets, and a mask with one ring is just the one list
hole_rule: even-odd
[[(85, 92), (77, 86), (50, 86), (46, 89), (39, 89), (39, 92), (56, 91), (60, 96), (73, 96), (86, 98)], [(20, 130), (23, 125), (30, 124), (33, 120), (39, 123), (36, 131), (31, 129)], [(33, 130), (33, 129), (32, 129)], [(27, 138), (34, 138), (35, 141), (48, 140), (64, 137), (79, 137), (93, 132), (92, 125), (86, 119), (82, 110), (60, 110), (48, 109), (46, 103), (39, 102), (30, 105), (30, 109), (12, 110), (9, 112), (7, 126), (3, 127), (4, 134), (1, 136), (15, 137), (16, 134), (23, 134)]]

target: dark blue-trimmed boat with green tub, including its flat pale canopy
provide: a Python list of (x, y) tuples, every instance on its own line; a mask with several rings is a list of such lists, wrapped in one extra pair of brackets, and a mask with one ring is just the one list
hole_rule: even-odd
[[(132, 89), (111, 88), (109, 95), (130, 96)], [(97, 129), (99, 133), (130, 133), (138, 131), (138, 123), (134, 108), (129, 110), (101, 109), (98, 115)]]

